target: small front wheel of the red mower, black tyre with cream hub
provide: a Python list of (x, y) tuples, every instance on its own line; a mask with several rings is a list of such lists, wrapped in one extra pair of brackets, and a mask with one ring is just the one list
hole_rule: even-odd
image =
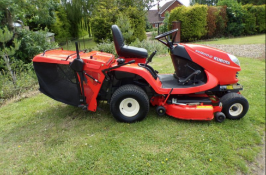
[(223, 109), (222, 112), (226, 115), (226, 118), (231, 120), (241, 119), (248, 112), (248, 101), (238, 93), (225, 94), (221, 99)]

